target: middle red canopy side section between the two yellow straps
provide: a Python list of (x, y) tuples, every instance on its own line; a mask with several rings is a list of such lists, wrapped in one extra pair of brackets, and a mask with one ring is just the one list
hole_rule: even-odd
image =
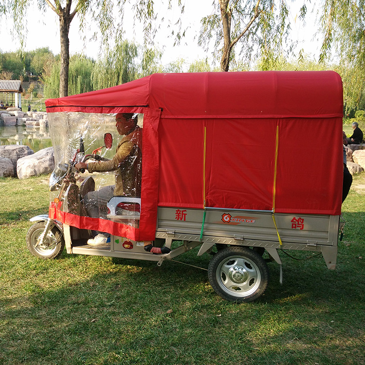
[(275, 123), (207, 121), (206, 206), (272, 209)]

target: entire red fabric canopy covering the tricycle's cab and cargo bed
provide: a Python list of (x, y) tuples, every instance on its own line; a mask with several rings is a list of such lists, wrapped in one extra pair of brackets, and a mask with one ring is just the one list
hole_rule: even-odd
[(340, 214), (335, 72), (160, 73), (46, 107), (145, 113), (136, 239), (154, 238), (158, 205)]

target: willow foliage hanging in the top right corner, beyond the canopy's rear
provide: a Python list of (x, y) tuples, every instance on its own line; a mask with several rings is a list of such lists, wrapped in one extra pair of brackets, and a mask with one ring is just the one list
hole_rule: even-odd
[(347, 111), (365, 108), (365, 0), (324, 0), (320, 61), (338, 57)]

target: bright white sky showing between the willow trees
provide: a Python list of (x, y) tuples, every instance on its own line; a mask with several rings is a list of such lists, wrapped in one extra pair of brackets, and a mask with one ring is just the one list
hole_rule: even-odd
[[(204, 50), (197, 45), (197, 37), (200, 30), (200, 20), (203, 16), (209, 15), (212, 12), (213, 0), (185, 0), (185, 13), (182, 17), (183, 26), (187, 28), (186, 37), (183, 38), (182, 44), (178, 47), (173, 46), (173, 39), (166, 37), (168, 29), (164, 28), (155, 38), (155, 46), (163, 50), (162, 64), (166, 65), (171, 61), (179, 58), (185, 59), (187, 62), (192, 62), (197, 59), (212, 58), (211, 52), (204, 52)], [(158, 5), (157, 5), (158, 6)], [(161, 15), (164, 9), (157, 9)], [(292, 20), (295, 19), (299, 11), (299, 6), (295, 7), (295, 2), (292, 5)], [(128, 13), (127, 13), (128, 14)], [(165, 17), (169, 17), (171, 22), (175, 22), (181, 13), (179, 9), (173, 9), (165, 13)], [(59, 25), (58, 18), (55, 13), (47, 9), (45, 14), (40, 13), (37, 7), (29, 9), (27, 15), (27, 30), (25, 51), (36, 50), (41, 47), (49, 47), (49, 49), (56, 55), (60, 52), (59, 40)], [(131, 21), (128, 23), (128, 18), (125, 17), (126, 37), (129, 40), (135, 40), (137, 43), (142, 43), (142, 31), (138, 28), (133, 28)], [(17, 51), (20, 43), (15, 39), (10, 29), (13, 28), (11, 19), (4, 19), (0, 21), (0, 49), (2, 52)], [(97, 60), (99, 55), (99, 45), (95, 41), (86, 42), (84, 44), (79, 34), (78, 19), (74, 18), (70, 26), (70, 54), (83, 52), (85, 55)], [(304, 48), (305, 53), (310, 56), (318, 55), (319, 41), (312, 39), (314, 25), (314, 17), (310, 16), (307, 19), (307, 25), (303, 26), (299, 21), (292, 21), (292, 37), (298, 41), (299, 48)], [(141, 39), (141, 41), (140, 41)]]

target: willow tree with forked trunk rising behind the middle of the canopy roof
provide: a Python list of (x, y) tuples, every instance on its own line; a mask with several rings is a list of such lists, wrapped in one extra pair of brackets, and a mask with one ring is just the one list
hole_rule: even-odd
[[(303, 18), (306, 8), (300, 10)], [(202, 18), (199, 44), (207, 49), (214, 41), (214, 53), (220, 58), (221, 71), (228, 71), (235, 48), (249, 62), (260, 55), (270, 62), (291, 51), (283, 43), (289, 40), (289, 5), (284, 0), (216, 0), (211, 15)]]

